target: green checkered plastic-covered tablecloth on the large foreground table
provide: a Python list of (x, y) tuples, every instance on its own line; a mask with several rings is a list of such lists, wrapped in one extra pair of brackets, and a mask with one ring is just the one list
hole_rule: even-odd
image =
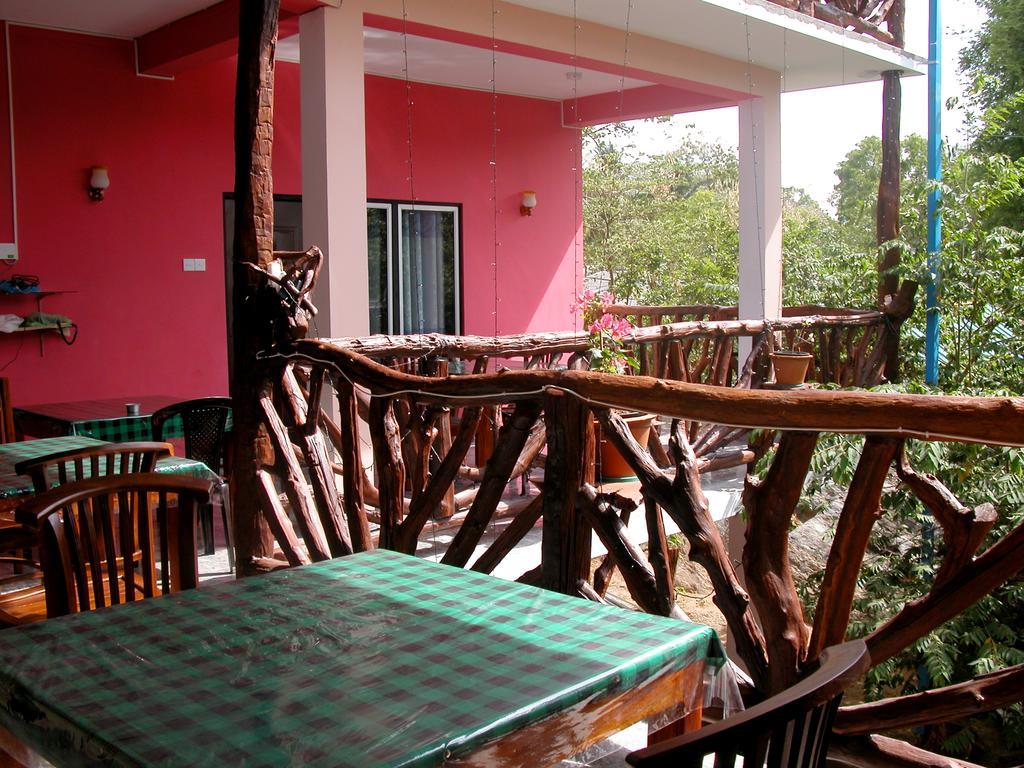
[(708, 627), (377, 550), (0, 632), (0, 720), (58, 765), (432, 766), (721, 656)]

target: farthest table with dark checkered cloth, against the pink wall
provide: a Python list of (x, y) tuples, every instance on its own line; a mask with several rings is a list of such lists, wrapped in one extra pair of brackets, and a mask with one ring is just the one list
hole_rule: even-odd
[[(33, 437), (85, 435), (110, 442), (152, 440), (152, 416), (160, 409), (180, 402), (166, 394), (119, 397), (106, 400), (46, 402), (14, 409), (14, 422), (22, 434)], [(138, 415), (128, 416), (129, 402), (138, 403)], [(175, 424), (176, 422), (176, 424)], [(167, 425), (165, 437), (181, 437), (180, 419)]]

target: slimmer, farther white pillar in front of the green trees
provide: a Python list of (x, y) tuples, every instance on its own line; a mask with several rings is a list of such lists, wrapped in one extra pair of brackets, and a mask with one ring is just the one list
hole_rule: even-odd
[[(782, 130), (776, 91), (739, 104), (739, 317), (782, 308)], [(739, 344), (739, 365), (751, 340)]]

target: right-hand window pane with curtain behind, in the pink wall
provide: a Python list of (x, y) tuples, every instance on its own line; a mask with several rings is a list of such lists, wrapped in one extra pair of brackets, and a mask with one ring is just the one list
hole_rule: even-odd
[(456, 211), (401, 211), (402, 333), (458, 331)]

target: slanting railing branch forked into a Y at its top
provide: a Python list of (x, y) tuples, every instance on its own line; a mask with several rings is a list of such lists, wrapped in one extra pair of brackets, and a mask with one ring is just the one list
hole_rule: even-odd
[(606, 409), (595, 413), (601, 422), (601, 433), (614, 443), (636, 473), (645, 497), (655, 500), (675, 520), (689, 542), (690, 559), (708, 571), (715, 587), (715, 604), (729, 624), (729, 634), (751, 677), (763, 689), (768, 682), (764, 635), (712, 519), (708, 499), (700, 489), (697, 459), (682, 430), (673, 430), (670, 446), (676, 455), (677, 466), (675, 477), (669, 477), (633, 439), (622, 417)]

